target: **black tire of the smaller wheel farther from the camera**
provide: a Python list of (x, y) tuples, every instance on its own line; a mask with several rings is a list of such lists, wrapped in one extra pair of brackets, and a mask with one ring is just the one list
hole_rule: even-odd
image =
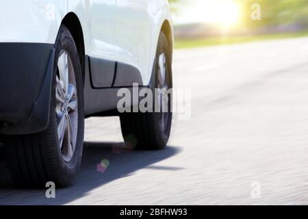
[[(161, 32), (156, 52), (155, 69), (153, 70), (151, 90), (159, 88), (159, 57), (164, 54), (166, 63), (166, 83), (172, 88), (172, 51), (164, 33)], [(157, 101), (153, 96), (154, 103)], [(164, 149), (168, 143), (172, 125), (172, 112), (170, 105), (172, 99), (168, 96), (168, 112), (135, 112), (120, 115), (120, 124), (125, 144), (129, 149), (137, 150), (159, 150)], [(164, 117), (165, 116), (165, 117)], [(164, 125), (162, 125), (164, 118)]]

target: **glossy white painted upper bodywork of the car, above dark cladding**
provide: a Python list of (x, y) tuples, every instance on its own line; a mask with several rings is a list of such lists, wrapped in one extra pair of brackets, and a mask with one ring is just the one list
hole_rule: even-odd
[(135, 66), (149, 84), (159, 32), (171, 23), (167, 0), (0, 0), (0, 42), (54, 44), (69, 12), (81, 23), (86, 55)]

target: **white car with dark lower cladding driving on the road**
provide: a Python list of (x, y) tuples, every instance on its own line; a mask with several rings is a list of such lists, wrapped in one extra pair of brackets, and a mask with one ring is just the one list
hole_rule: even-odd
[(73, 183), (90, 116), (120, 116), (133, 149), (166, 146), (172, 112), (120, 114), (117, 93), (172, 88), (167, 0), (0, 0), (0, 30), (0, 146), (16, 183)]

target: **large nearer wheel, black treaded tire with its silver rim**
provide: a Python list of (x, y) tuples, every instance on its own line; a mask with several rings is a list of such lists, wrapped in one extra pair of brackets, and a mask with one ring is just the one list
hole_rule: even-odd
[(5, 157), (18, 186), (41, 188), (53, 181), (57, 188), (66, 187), (79, 170), (84, 144), (84, 86), (77, 47), (64, 25), (55, 42), (54, 63), (47, 130), (5, 136)]

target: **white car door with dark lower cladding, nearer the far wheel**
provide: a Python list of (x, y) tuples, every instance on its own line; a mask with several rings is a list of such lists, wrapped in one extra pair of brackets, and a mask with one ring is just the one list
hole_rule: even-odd
[(130, 86), (131, 77), (133, 82), (149, 81), (151, 1), (116, 0), (116, 6), (116, 86)]

